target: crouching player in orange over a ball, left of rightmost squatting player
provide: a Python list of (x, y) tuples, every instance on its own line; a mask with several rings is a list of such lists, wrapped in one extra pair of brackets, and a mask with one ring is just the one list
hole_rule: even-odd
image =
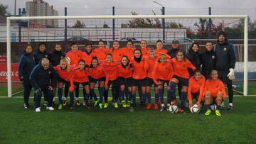
[(196, 99), (196, 104), (201, 107), (201, 101), (203, 96), (203, 87), (205, 84), (206, 78), (203, 77), (200, 70), (196, 70), (194, 75), (189, 78), (188, 81), (188, 101), (189, 108), (193, 106), (192, 100)]

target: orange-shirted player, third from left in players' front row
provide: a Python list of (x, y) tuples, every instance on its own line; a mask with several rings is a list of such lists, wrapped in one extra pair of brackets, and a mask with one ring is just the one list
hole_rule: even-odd
[(104, 67), (99, 65), (97, 57), (92, 57), (92, 64), (90, 65), (89, 72), (90, 72), (90, 94), (93, 96), (96, 96), (94, 89), (95, 89), (95, 84), (98, 82), (98, 88), (100, 93), (99, 108), (102, 109), (104, 88), (108, 84), (109, 74), (107, 74), (107, 71), (105, 70)]

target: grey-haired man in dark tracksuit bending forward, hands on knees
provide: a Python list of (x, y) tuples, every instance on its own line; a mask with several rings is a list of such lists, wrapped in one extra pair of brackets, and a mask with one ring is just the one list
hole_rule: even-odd
[(53, 89), (57, 83), (57, 72), (50, 66), (47, 58), (43, 58), (41, 63), (36, 65), (29, 77), (31, 84), (36, 92), (36, 112), (41, 111), (41, 96), (42, 92), (46, 92), (48, 104), (46, 109), (53, 111)]

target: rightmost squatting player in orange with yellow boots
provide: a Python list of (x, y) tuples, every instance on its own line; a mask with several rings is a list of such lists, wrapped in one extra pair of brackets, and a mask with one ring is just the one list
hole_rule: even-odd
[(215, 104), (215, 113), (217, 116), (221, 116), (220, 104), (224, 101), (227, 94), (225, 93), (225, 86), (223, 82), (218, 79), (218, 72), (216, 70), (212, 70), (210, 72), (210, 79), (206, 80), (203, 95), (205, 96), (205, 105), (207, 109), (205, 115), (210, 115), (210, 105)]

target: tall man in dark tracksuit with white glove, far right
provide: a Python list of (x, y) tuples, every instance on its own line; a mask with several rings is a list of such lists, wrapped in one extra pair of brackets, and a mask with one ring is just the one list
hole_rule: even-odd
[(229, 110), (233, 110), (233, 87), (232, 80), (235, 79), (235, 47), (228, 42), (224, 31), (218, 33), (218, 40), (215, 47), (216, 64), (215, 69), (218, 70), (218, 78), (227, 84)]

